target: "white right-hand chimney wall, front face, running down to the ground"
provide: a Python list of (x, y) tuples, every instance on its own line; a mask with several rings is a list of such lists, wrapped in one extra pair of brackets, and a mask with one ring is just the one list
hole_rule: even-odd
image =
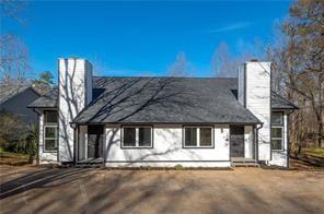
[(258, 130), (258, 159), (270, 160), (270, 63), (246, 62), (245, 104), (264, 124)]

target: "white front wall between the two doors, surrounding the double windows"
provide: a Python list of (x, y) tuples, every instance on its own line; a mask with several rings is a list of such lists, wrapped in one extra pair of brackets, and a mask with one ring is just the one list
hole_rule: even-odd
[(106, 126), (106, 166), (229, 167), (229, 126), (215, 126), (213, 148), (183, 148), (183, 127), (153, 127), (153, 148), (121, 148), (118, 126)]

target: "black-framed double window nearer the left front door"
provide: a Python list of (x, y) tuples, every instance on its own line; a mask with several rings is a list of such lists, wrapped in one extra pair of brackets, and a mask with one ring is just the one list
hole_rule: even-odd
[(152, 128), (124, 127), (121, 147), (152, 147)]

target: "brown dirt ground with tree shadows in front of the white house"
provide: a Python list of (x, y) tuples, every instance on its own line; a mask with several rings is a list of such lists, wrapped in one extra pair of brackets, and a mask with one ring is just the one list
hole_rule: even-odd
[(0, 166), (4, 213), (324, 213), (324, 171)]

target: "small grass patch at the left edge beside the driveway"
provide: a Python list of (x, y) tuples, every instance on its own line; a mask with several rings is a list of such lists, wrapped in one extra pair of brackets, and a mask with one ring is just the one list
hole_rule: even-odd
[(5, 152), (0, 148), (0, 165), (21, 166), (25, 164), (28, 164), (28, 155)]

